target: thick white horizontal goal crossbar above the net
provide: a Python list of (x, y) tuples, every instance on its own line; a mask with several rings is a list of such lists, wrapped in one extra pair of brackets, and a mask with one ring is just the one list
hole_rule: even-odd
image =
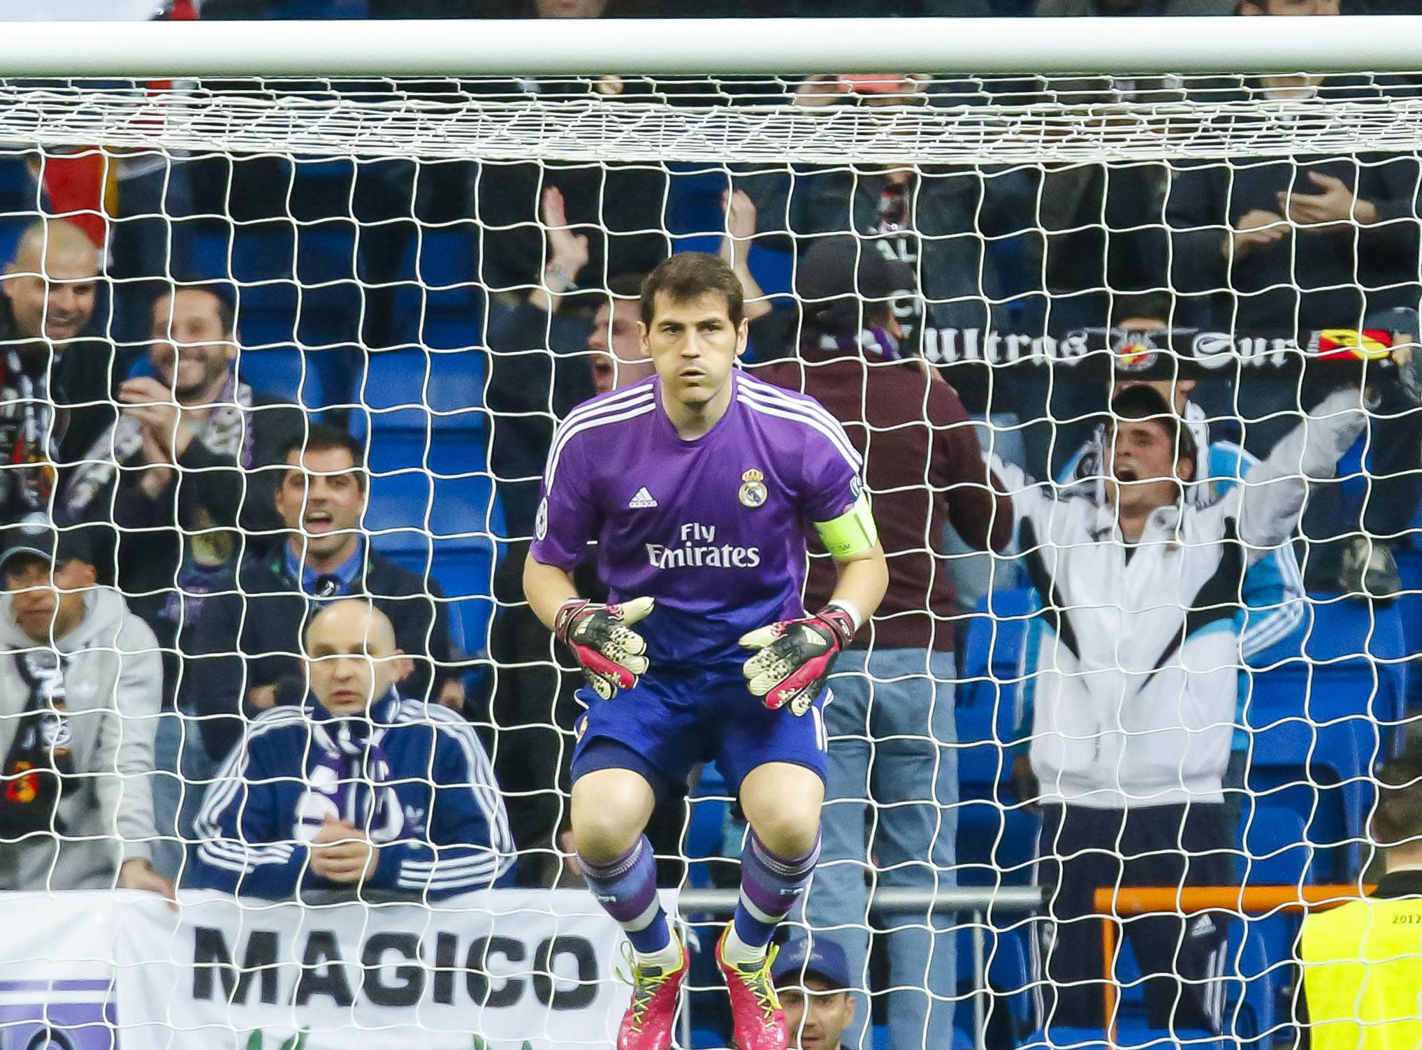
[[(1411, 16), (9, 23), (14, 77), (1406, 71)], [(694, 30), (693, 30), (694, 27)], [(886, 33), (886, 27), (893, 27)]]

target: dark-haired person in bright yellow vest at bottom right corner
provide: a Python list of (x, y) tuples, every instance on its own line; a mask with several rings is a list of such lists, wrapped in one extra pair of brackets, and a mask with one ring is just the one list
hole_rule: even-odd
[(1362, 901), (1304, 916), (1300, 959), (1311, 1050), (1389, 1050), (1422, 1041), (1422, 762), (1378, 774), (1375, 841), (1386, 874)]

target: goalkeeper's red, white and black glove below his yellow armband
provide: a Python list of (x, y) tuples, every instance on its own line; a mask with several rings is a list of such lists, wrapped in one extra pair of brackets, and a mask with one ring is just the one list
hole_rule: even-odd
[(825, 688), (829, 669), (855, 637), (853, 615), (838, 605), (826, 605), (813, 617), (782, 619), (741, 635), (741, 645), (759, 649), (745, 661), (747, 688), (765, 706), (778, 710), (786, 703), (803, 715)]

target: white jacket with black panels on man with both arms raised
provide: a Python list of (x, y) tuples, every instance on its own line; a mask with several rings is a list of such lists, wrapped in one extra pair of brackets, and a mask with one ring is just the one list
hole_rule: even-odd
[(1330, 394), (1219, 500), (1152, 513), (1129, 560), (1112, 504), (994, 458), (1049, 628), (1031, 740), (1044, 801), (1223, 800), (1243, 570), (1293, 536), (1307, 479), (1331, 477), (1364, 423), (1357, 389)]

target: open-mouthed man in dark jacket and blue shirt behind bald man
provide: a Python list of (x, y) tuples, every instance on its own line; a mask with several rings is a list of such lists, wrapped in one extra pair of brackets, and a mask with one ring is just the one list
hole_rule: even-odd
[(282, 460), (289, 469), (276, 510), (286, 523), (286, 544), (245, 558), (236, 591), (209, 598), (193, 629), (185, 708), (202, 718), (202, 739), (215, 762), (232, 750), (245, 719), (303, 702), (301, 627), (310, 610), (347, 595), (371, 598), (395, 625), (397, 642), (412, 658), (401, 683), (405, 695), (451, 708), (464, 703), (439, 585), (371, 551), (360, 531), (370, 489), (360, 443), (311, 423)]

